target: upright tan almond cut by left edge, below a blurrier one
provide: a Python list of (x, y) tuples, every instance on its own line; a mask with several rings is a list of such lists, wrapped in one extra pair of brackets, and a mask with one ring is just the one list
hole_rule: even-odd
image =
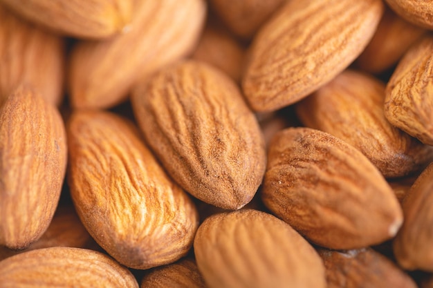
[(30, 88), (0, 108), (0, 245), (24, 249), (46, 231), (66, 171), (62, 117)]

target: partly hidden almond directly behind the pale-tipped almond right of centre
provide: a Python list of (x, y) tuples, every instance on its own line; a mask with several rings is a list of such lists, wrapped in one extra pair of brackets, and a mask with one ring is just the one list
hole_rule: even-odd
[(433, 161), (433, 148), (389, 124), (385, 84), (346, 70), (296, 105), (302, 123), (358, 148), (385, 177), (401, 177)]

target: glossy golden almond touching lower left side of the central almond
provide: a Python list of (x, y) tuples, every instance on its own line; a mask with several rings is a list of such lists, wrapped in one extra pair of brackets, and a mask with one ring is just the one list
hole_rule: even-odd
[(76, 112), (68, 144), (75, 209), (103, 249), (134, 269), (185, 256), (198, 227), (196, 208), (130, 122), (102, 111)]

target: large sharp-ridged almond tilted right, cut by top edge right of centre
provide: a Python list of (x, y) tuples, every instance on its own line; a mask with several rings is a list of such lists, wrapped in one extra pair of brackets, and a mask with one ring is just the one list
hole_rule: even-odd
[(250, 106), (275, 111), (331, 81), (364, 50), (382, 13), (380, 0), (288, 1), (250, 47), (242, 83)]

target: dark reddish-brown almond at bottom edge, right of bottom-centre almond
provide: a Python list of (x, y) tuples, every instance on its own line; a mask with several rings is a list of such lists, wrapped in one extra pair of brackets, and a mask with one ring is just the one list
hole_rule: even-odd
[(407, 273), (371, 248), (318, 252), (326, 268), (328, 288), (417, 287)]

